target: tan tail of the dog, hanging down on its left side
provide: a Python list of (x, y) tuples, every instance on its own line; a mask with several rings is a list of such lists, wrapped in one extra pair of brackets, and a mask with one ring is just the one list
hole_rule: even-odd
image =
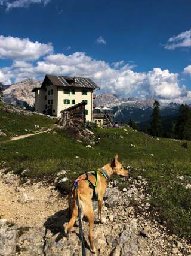
[(67, 235), (69, 233), (69, 231), (71, 230), (71, 228), (73, 228), (73, 225), (75, 224), (75, 221), (78, 217), (78, 206), (76, 204), (76, 198), (77, 198), (77, 191), (76, 189), (72, 188), (72, 207), (71, 204), (69, 206), (70, 210), (71, 210), (71, 215), (70, 215), (70, 221), (67, 223), (66, 227), (65, 227), (65, 234)]

